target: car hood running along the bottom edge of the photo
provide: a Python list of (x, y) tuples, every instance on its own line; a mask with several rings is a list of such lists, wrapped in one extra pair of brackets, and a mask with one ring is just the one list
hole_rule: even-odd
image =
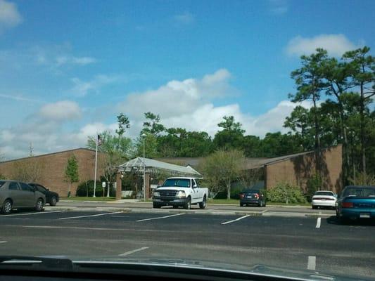
[[(322, 273), (316, 270), (300, 270), (295, 268), (279, 268), (263, 264), (253, 266), (236, 265), (231, 263), (219, 263), (215, 261), (189, 260), (189, 259), (129, 259), (120, 256), (107, 257), (83, 257), (83, 256), (1, 256), (0, 268), (12, 268), (15, 266), (30, 266), (33, 263), (39, 265), (38, 269), (84, 271), (85, 268), (98, 270), (101, 273), (121, 273), (121, 270), (139, 270), (158, 272), (160, 276), (167, 273), (181, 275), (200, 275), (234, 278), (238, 280), (258, 277), (286, 277), (291, 280), (374, 280), (370, 277), (334, 275)], [(69, 265), (70, 264), (70, 265)], [(36, 268), (34, 268), (36, 269)]]

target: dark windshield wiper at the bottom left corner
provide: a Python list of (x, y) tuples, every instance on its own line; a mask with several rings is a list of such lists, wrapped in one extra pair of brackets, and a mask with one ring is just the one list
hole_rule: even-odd
[(5, 264), (26, 266), (32, 265), (41, 268), (72, 269), (73, 263), (70, 259), (46, 258), (43, 256), (0, 256), (0, 266)]

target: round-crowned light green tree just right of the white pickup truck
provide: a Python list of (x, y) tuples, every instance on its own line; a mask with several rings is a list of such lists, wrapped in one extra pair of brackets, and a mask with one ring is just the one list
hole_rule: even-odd
[(210, 190), (227, 190), (227, 199), (231, 197), (231, 183), (241, 176), (244, 156), (240, 150), (217, 150), (203, 159), (199, 171), (208, 183)]

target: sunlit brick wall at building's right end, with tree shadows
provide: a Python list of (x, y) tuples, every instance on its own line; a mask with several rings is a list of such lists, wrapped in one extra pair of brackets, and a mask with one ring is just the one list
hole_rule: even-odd
[[(342, 146), (322, 152), (323, 189), (339, 192), (342, 189)], [(315, 173), (314, 153), (300, 155), (266, 166), (266, 186), (273, 188), (278, 182), (298, 185), (306, 190), (306, 183)]]

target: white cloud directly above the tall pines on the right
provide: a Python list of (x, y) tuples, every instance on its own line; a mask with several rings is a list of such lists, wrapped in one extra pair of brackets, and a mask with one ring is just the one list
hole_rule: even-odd
[(344, 34), (320, 34), (315, 37), (294, 37), (286, 46), (288, 55), (310, 55), (317, 48), (326, 49), (330, 55), (341, 56), (346, 51), (358, 48)]

